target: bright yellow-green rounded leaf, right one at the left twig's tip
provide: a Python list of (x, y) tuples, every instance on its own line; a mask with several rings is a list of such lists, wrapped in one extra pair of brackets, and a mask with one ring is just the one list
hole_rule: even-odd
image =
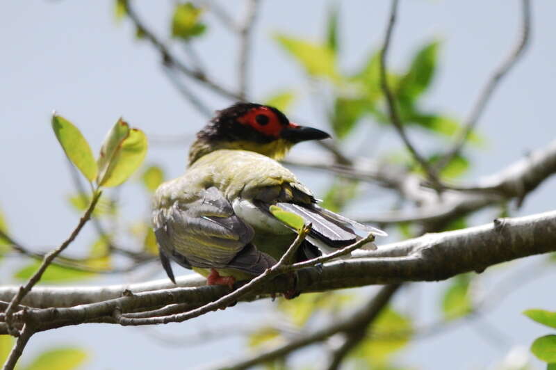
[[(120, 124), (116, 124), (119, 126)], [(117, 138), (121, 138), (117, 134)], [(137, 170), (147, 154), (147, 136), (139, 129), (129, 129), (129, 134), (118, 140), (119, 145), (115, 147), (113, 155), (110, 156), (103, 176), (99, 177), (100, 186), (118, 186)], [(111, 147), (108, 145), (107, 148)], [(108, 153), (108, 152), (106, 152)]]

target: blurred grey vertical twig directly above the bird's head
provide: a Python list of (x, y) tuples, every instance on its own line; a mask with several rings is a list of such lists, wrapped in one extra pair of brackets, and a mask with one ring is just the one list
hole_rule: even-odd
[(246, 99), (248, 95), (249, 81), (247, 70), (249, 67), (250, 52), (252, 47), (251, 33), (255, 23), (256, 13), (259, 8), (259, 0), (246, 0), (245, 21), (239, 30), (240, 46), (238, 57), (238, 86), (239, 95)]

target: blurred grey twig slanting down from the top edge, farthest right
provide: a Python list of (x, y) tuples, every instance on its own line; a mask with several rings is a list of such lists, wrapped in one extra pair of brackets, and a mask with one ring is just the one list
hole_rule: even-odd
[(530, 40), (531, 33), (531, 4), (530, 0), (521, 0), (521, 31), (519, 33), (518, 40), (512, 52), (507, 56), (507, 58), (500, 64), (500, 66), (493, 72), (486, 85), (482, 88), (477, 99), (477, 103), (473, 106), (471, 114), (466, 121), (464, 129), (460, 131), (459, 136), (457, 136), (454, 145), (442, 156), (441, 160), (436, 164), (436, 170), (441, 170), (450, 163), (450, 161), (461, 152), (469, 135), (477, 126), (484, 108), (491, 100), (491, 97), (499, 86), (500, 81), (507, 75), (509, 70), (516, 65), (517, 61), (523, 56), (523, 51), (527, 47)]

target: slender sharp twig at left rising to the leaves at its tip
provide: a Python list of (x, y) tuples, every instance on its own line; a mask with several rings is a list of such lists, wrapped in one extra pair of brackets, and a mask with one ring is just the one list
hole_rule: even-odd
[(74, 241), (79, 232), (81, 232), (81, 229), (83, 228), (83, 226), (85, 226), (85, 223), (87, 223), (87, 221), (90, 219), (92, 211), (95, 209), (95, 206), (97, 205), (97, 202), (99, 201), (101, 195), (101, 191), (95, 192), (95, 195), (93, 195), (88, 209), (85, 211), (85, 214), (83, 214), (83, 217), (81, 217), (81, 219), (79, 220), (79, 223), (77, 224), (70, 237), (66, 239), (66, 241), (64, 241), (58, 248), (45, 255), (44, 259), (42, 260), (42, 264), (40, 264), (38, 270), (33, 274), (33, 276), (31, 276), (31, 278), (24, 286), (19, 287), (17, 295), (11, 300), (10, 305), (8, 305), (8, 308), (6, 309), (6, 325), (8, 326), (8, 332), (10, 332), (10, 335), (13, 335), (15, 337), (19, 335), (19, 331), (15, 330), (12, 325), (13, 310), (19, 305), (19, 303), (21, 303), (25, 295), (29, 291), (31, 291), (31, 289), (33, 289), (35, 284), (39, 282), (40, 278), (42, 278), (42, 274), (44, 273), (44, 271), (47, 270), (52, 261), (54, 261), (54, 259), (61, 252), (63, 252), (63, 250), (65, 250), (65, 248), (67, 248), (67, 246), (69, 246), (72, 241)]

